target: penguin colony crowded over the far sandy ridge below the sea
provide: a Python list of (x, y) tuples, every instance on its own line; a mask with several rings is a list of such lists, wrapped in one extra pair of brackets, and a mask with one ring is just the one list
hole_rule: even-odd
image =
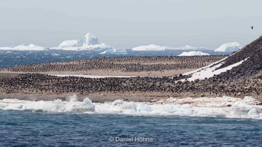
[(228, 55), (208, 56), (152, 56), (152, 57), (99, 57), (77, 61), (26, 64), (0, 68), (0, 71), (40, 73), (63, 71), (115, 70), (120, 72), (167, 71), (196, 69), (219, 61)]

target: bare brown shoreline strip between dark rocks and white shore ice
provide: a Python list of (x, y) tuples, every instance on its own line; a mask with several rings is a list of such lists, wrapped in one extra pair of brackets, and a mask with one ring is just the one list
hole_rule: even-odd
[(56, 99), (61, 99), (62, 101), (70, 101), (70, 98), (73, 95), (77, 96), (78, 101), (83, 101), (84, 98), (89, 98), (95, 103), (105, 103), (112, 102), (115, 100), (123, 100), (123, 101), (133, 101), (133, 102), (152, 102), (151, 100), (165, 100), (169, 97), (173, 98), (201, 98), (201, 97), (223, 97), (230, 96), (233, 98), (241, 98), (243, 99), (245, 96), (252, 96), (257, 101), (262, 101), (262, 98), (259, 95), (243, 95), (243, 96), (234, 96), (233, 94), (215, 94), (215, 93), (172, 93), (172, 92), (91, 92), (91, 93), (22, 93), (22, 92), (1, 92), (0, 100), (8, 98), (8, 99), (19, 99), (19, 100), (28, 100), (28, 101), (54, 101)]

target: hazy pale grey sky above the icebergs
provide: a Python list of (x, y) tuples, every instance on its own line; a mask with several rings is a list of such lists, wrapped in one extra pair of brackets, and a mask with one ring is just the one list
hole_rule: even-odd
[(244, 46), (262, 35), (261, 6), (261, 0), (1, 0), (0, 46), (54, 47), (87, 32), (114, 48)]

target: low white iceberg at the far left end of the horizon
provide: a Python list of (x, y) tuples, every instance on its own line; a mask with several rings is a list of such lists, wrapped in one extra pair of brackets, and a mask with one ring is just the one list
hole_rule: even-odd
[(37, 46), (34, 44), (30, 44), (29, 46), (25, 46), (21, 44), (15, 47), (0, 47), (0, 50), (17, 50), (17, 51), (48, 51), (47, 48), (42, 46)]

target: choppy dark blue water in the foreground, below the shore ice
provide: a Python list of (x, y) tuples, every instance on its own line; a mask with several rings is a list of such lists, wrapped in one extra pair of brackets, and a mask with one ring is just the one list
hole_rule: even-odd
[[(262, 120), (0, 110), (0, 146), (261, 146)], [(110, 142), (109, 138), (114, 141)], [(152, 138), (116, 142), (115, 137)]]

